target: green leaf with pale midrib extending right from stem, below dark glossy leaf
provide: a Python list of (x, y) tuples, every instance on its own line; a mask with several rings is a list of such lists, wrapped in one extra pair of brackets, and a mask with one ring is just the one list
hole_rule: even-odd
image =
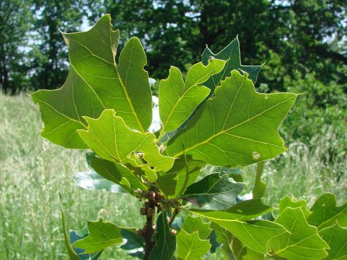
[(260, 199), (246, 200), (224, 211), (189, 209), (226, 229), (254, 251), (267, 253), (267, 242), (286, 229), (277, 223), (252, 219), (271, 211), (272, 208), (261, 203)]

